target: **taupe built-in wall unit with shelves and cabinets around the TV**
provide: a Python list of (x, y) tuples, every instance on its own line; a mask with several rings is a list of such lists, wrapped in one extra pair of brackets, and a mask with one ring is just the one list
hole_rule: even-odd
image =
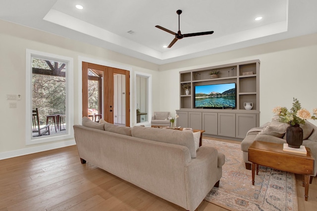
[[(211, 79), (210, 72), (219, 71)], [(205, 134), (243, 139), (252, 127), (260, 125), (260, 60), (237, 62), (195, 70), (180, 75), (180, 109), (177, 126), (205, 130)], [(195, 108), (195, 85), (236, 83), (235, 109)], [(190, 84), (189, 94), (182, 88)], [(253, 103), (251, 110), (245, 102)]]

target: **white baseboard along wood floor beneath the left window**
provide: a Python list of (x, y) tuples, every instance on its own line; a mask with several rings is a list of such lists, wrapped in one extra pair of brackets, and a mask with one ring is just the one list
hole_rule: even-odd
[(75, 139), (0, 153), (0, 160), (75, 145)]

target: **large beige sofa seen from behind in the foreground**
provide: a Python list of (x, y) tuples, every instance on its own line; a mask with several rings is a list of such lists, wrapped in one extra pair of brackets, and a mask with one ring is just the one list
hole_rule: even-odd
[(211, 146), (196, 150), (192, 132), (87, 119), (83, 126), (73, 126), (83, 164), (87, 161), (190, 211), (219, 185), (224, 155)]

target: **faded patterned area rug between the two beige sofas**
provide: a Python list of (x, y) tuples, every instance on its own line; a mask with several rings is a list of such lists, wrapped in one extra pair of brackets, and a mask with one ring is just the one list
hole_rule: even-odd
[(293, 173), (260, 166), (252, 185), (252, 172), (245, 169), (240, 144), (203, 139), (225, 155), (219, 187), (208, 201), (230, 211), (298, 211), (296, 178)]

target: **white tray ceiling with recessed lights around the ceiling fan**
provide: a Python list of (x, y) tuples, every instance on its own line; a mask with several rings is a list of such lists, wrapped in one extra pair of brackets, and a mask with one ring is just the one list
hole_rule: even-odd
[[(165, 64), (317, 33), (316, 8), (317, 0), (0, 0), (0, 19)], [(163, 48), (174, 36), (155, 26), (177, 33), (177, 9), (182, 34), (214, 33)]]

